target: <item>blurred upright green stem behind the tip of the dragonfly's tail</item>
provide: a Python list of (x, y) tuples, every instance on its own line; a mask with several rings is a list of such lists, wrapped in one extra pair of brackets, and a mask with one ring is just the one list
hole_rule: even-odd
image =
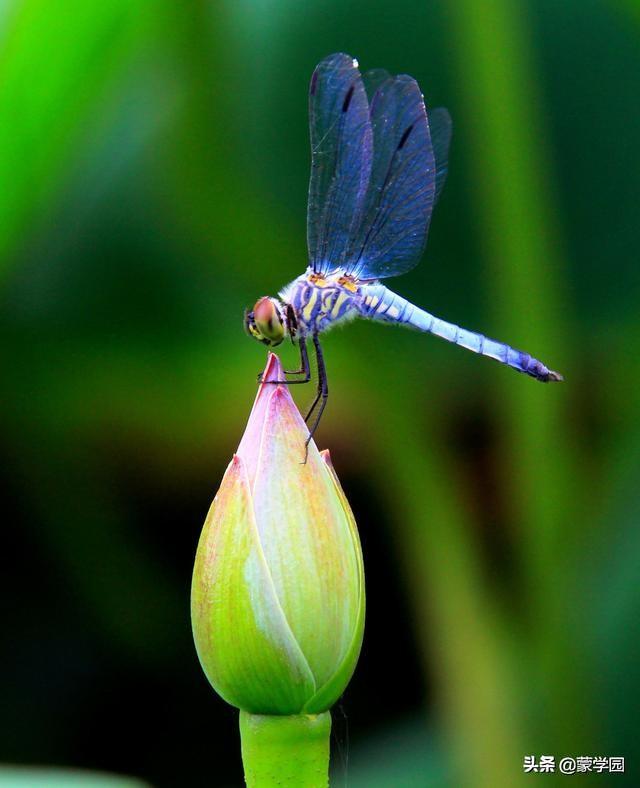
[[(564, 244), (539, 69), (524, 3), (497, 0), (487, 16), (480, 0), (463, 0), (450, 7), (450, 17), (465, 98), (461, 121), (470, 130), (487, 298), (495, 299), (501, 316), (498, 335), (516, 345), (526, 337), (527, 349), (567, 378), (561, 386), (546, 388), (522, 385), (521, 379), (505, 382), (499, 423), (508, 452), (505, 489), (519, 529), (519, 560), (538, 650), (539, 691), (545, 705), (555, 707), (555, 745), (568, 747), (576, 742), (562, 738), (570, 730), (565, 715), (576, 713), (583, 690), (566, 637), (567, 564), (585, 528), (589, 499), (588, 491), (583, 498), (574, 494), (578, 457), (567, 425), (575, 396), (575, 350), (565, 315)], [(573, 734), (588, 740), (586, 715), (584, 709), (583, 730)], [(548, 720), (541, 724), (549, 730)]]

